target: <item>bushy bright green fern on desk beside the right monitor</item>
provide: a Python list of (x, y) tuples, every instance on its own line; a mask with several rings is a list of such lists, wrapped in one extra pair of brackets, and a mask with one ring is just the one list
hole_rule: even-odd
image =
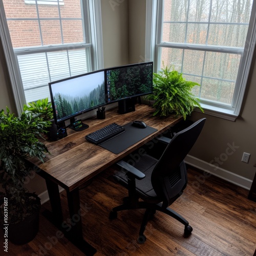
[(170, 67), (161, 69), (153, 74), (153, 94), (147, 98), (154, 100), (154, 116), (182, 115), (184, 120), (190, 115), (195, 106), (203, 112), (199, 99), (191, 92), (194, 86), (200, 84), (186, 81), (181, 73), (170, 70)]

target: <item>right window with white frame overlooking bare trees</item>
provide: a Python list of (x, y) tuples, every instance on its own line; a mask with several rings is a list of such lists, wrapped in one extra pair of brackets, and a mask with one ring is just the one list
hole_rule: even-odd
[(157, 70), (173, 66), (201, 84), (193, 92), (206, 113), (231, 120), (239, 114), (254, 49), (252, 2), (160, 0), (147, 7)]

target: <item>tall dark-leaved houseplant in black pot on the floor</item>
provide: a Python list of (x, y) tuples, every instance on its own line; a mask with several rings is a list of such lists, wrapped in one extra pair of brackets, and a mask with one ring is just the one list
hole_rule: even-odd
[[(31, 172), (27, 159), (36, 157), (44, 161), (49, 152), (39, 138), (49, 125), (49, 121), (30, 112), (24, 111), (20, 117), (11, 114), (8, 108), (7, 114), (4, 110), (0, 112), (0, 198), (4, 202), (0, 216), (3, 224), (9, 224), (8, 240), (15, 244), (28, 243), (38, 231), (40, 199), (25, 187)], [(30, 228), (31, 223), (35, 227)], [(27, 234), (28, 231), (31, 233)]]

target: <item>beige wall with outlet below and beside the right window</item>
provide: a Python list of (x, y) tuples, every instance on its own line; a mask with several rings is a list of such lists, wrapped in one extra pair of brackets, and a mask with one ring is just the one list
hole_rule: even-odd
[[(244, 106), (235, 122), (200, 113), (193, 114), (193, 120), (206, 117), (207, 121), (202, 135), (190, 154), (206, 162), (214, 160), (220, 168), (252, 180), (256, 170), (253, 167), (256, 163), (255, 59), (250, 73)], [(226, 154), (227, 148), (230, 147), (228, 143), (236, 146), (232, 155)], [(227, 150), (227, 152), (230, 154), (232, 151)], [(249, 163), (241, 161), (243, 152), (251, 154)]]

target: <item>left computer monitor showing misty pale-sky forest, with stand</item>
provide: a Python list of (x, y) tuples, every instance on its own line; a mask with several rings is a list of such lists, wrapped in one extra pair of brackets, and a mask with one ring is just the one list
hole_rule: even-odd
[(75, 117), (106, 104), (104, 70), (49, 83), (55, 123), (70, 119), (70, 128), (84, 130), (87, 124)]

